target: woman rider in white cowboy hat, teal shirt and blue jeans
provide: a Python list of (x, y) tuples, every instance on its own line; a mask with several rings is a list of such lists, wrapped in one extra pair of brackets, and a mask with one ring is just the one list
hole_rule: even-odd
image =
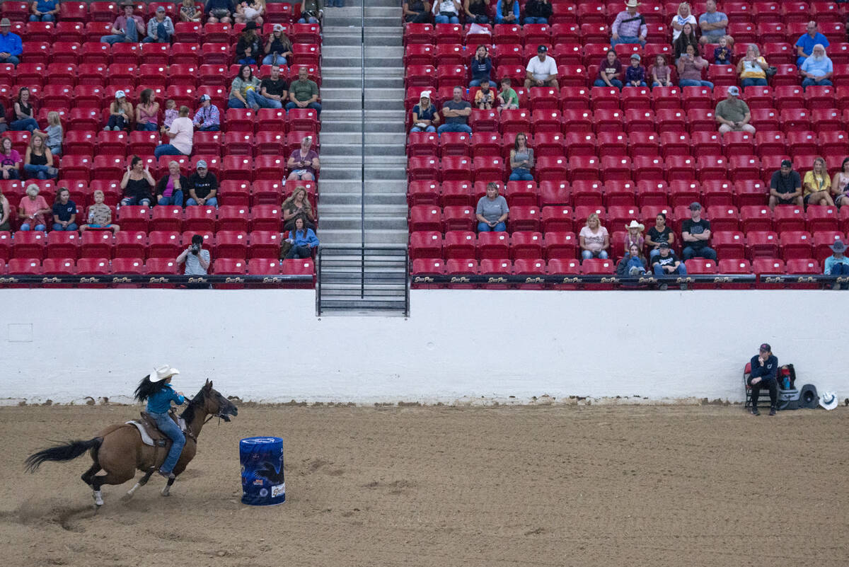
[(167, 364), (160, 366), (154, 372), (145, 376), (138, 383), (135, 391), (136, 400), (147, 401), (145, 411), (155, 421), (160, 431), (173, 441), (165, 462), (162, 463), (158, 471), (166, 479), (174, 478), (174, 467), (177, 465), (180, 453), (183, 452), (183, 446), (186, 445), (186, 435), (183, 435), (183, 431), (168, 415), (168, 411), (171, 409), (171, 401), (176, 403), (177, 406), (182, 406), (183, 402), (186, 401), (183, 392), (175, 392), (171, 388), (171, 379), (179, 373), (180, 371), (177, 368), (171, 368)]

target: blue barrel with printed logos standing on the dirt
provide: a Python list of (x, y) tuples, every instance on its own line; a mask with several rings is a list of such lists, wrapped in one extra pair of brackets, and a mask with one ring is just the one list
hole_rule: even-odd
[(242, 463), (242, 503), (270, 506), (286, 501), (282, 439), (243, 439), (239, 441), (239, 460)]

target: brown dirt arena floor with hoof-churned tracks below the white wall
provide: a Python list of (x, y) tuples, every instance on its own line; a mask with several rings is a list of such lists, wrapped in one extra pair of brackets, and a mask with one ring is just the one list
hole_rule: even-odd
[[(48, 440), (135, 407), (3, 407), (3, 565), (849, 564), (849, 408), (250, 407), (207, 424), (171, 497), (104, 486)], [(239, 439), (284, 438), (286, 502), (239, 502)]]

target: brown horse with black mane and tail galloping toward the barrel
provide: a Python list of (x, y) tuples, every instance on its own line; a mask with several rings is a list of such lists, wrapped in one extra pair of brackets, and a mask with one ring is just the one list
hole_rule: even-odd
[[(183, 447), (177, 466), (174, 467), (175, 476), (179, 476), (186, 469), (188, 462), (194, 458), (194, 453), (198, 450), (197, 437), (205, 424), (206, 417), (217, 416), (230, 421), (228, 416), (237, 413), (239, 409), (235, 404), (217, 390), (213, 390), (212, 383), (207, 380), (198, 395), (188, 402), (188, 407), (181, 414), (192, 435), (187, 435), (186, 446)], [(170, 447), (170, 441), (168, 446), (160, 448), (144, 445), (142, 436), (134, 425), (115, 424), (99, 431), (93, 439), (88, 441), (70, 441), (33, 453), (26, 458), (25, 465), (31, 473), (34, 473), (45, 461), (70, 461), (84, 452), (91, 452), (94, 463), (82, 474), (82, 481), (92, 487), (94, 503), (102, 506), (104, 501), (100, 486), (120, 485), (132, 479), (136, 469), (141, 470), (144, 476), (127, 492), (127, 497), (132, 497), (133, 492), (138, 490), (139, 486), (147, 484), (150, 475), (165, 461), (168, 447)], [(104, 470), (106, 474), (95, 476), (100, 470)], [(168, 496), (172, 484), (174, 479), (169, 479), (168, 484), (162, 489), (162, 496)]]

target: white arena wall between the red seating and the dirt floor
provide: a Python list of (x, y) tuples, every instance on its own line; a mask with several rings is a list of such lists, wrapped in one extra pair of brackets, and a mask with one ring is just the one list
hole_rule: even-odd
[(849, 393), (849, 294), (413, 290), (411, 317), (315, 317), (312, 290), (3, 289), (0, 403), (128, 401), (170, 363), (244, 401), (742, 401), (767, 341)]

